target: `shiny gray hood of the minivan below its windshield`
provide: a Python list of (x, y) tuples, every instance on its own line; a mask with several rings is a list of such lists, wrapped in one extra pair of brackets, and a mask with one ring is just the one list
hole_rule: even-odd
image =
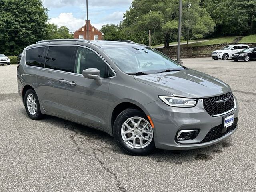
[(221, 80), (192, 69), (134, 76), (134, 78), (165, 90), (173, 96), (186, 98), (207, 98), (231, 90), (230, 86)]

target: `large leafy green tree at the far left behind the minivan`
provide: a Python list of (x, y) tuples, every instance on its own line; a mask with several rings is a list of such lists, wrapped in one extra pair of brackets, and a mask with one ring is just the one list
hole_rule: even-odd
[(17, 55), (47, 36), (47, 9), (41, 0), (0, 0), (0, 52)]

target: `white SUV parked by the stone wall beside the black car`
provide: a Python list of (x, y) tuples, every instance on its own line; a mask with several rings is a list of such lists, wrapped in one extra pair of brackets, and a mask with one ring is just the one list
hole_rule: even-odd
[(245, 48), (248, 48), (248, 45), (228, 45), (222, 48), (221, 50), (216, 50), (212, 52), (212, 58), (214, 60), (222, 59), (227, 60), (232, 57), (232, 54), (242, 51)]

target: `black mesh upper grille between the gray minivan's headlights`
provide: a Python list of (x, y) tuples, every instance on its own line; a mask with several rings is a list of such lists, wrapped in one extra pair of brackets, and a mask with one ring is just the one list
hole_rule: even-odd
[[(223, 103), (216, 103), (216, 101), (224, 100), (226, 98), (230, 98), (230, 99)], [(231, 91), (224, 95), (204, 98), (203, 103), (204, 103), (204, 109), (211, 116), (225, 113), (231, 110), (232, 108), (234, 108), (235, 106), (234, 96)]]

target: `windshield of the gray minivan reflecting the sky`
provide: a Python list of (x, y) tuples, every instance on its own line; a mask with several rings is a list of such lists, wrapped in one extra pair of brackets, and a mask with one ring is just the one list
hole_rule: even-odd
[(184, 70), (171, 58), (149, 47), (104, 48), (103, 51), (125, 73)]

